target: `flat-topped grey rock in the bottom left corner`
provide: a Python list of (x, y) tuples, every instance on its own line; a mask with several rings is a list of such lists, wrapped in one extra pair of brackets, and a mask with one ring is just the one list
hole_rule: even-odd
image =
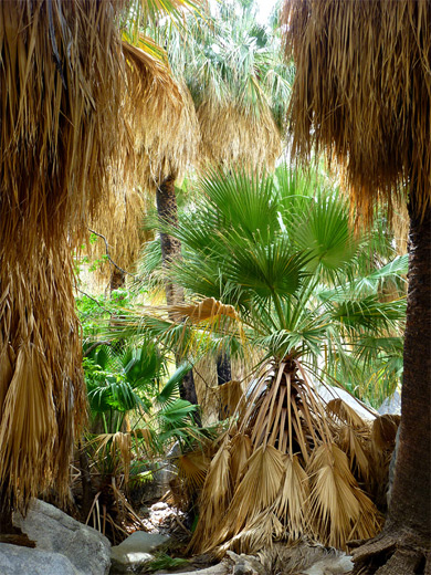
[(51, 551), (0, 543), (1, 575), (80, 575), (67, 557)]

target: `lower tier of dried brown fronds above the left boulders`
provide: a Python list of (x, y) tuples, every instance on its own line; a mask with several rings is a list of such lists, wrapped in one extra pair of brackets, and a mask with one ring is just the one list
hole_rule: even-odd
[(65, 495), (85, 418), (71, 250), (60, 248), (42, 248), (38, 261), (2, 262), (0, 483), (24, 501), (53, 481)]

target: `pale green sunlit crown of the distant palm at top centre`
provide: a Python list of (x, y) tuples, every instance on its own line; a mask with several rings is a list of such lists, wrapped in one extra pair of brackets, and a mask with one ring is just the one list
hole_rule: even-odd
[(186, 82), (196, 107), (210, 98), (259, 117), (265, 103), (283, 132), (293, 70), (284, 62), (278, 30), (256, 22), (253, 1), (212, 8), (213, 15), (185, 19), (187, 34), (169, 21), (148, 33), (166, 43), (172, 71)]

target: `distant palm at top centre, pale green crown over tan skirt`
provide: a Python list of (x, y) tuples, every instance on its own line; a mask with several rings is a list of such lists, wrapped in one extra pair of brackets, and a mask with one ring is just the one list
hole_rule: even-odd
[[(186, 82), (198, 115), (199, 164), (273, 169), (282, 153), (292, 70), (280, 38), (255, 21), (253, 2), (224, 2), (216, 17), (189, 19), (167, 38), (174, 73)], [(159, 38), (159, 36), (156, 36)]]

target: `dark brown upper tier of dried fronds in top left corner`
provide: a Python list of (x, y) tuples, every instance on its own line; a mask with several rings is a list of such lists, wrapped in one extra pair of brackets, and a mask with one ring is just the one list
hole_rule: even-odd
[(19, 243), (25, 257), (40, 238), (55, 245), (104, 194), (120, 140), (122, 3), (1, 4), (0, 231), (10, 254)]

